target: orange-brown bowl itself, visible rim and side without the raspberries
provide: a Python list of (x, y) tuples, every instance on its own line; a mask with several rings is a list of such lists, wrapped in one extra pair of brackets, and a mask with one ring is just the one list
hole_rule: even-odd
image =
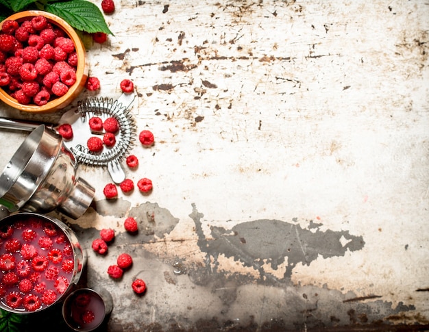
[(48, 103), (42, 106), (36, 105), (34, 103), (23, 105), (16, 101), (16, 99), (11, 97), (10, 94), (5, 91), (6, 89), (3, 88), (0, 88), (0, 99), (6, 104), (23, 112), (49, 113), (55, 112), (56, 110), (61, 110), (62, 108), (69, 105), (73, 101), (73, 99), (75, 99), (77, 95), (82, 91), (85, 86), (86, 79), (88, 79), (88, 66), (86, 65), (85, 47), (82, 40), (79, 38), (73, 27), (69, 25), (69, 23), (66, 23), (66, 21), (64, 21), (62, 18), (54, 14), (39, 10), (27, 10), (25, 12), (18, 12), (2, 21), (0, 23), (0, 28), (7, 20), (14, 20), (21, 24), (23, 21), (27, 21), (29, 19), (32, 19), (34, 16), (39, 15), (45, 16), (47, 18), (48, 23), (51, 23), (51, 25), (56, 25), (56, 27), (60, 27), (60, 29), (62, 29), (66, 33), (66, 36), (69, 36), (69, 38), (73, 40), (75, 44), (75, 51), (77, 53), (76, 81), (72, 86), (69, 87), (68, 92), (66, 92), (66, 94), (64, 94), (62, 97), (56, 97), (55, 99), (51, 99)]

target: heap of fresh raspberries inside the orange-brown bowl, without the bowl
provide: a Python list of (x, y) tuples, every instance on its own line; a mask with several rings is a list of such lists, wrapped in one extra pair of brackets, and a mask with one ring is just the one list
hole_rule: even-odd
[(76, 82), (71, 38), (42, 15), (6, 20), (0, 31), (0, 87), (23, 105), (45, 105)]

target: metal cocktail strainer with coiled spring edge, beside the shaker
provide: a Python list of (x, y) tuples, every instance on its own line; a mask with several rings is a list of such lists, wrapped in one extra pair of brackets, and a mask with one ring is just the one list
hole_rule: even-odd
[[(121, 183), (125, 173), (121, 161), (134, 144), (136, 125), (129, 107), (135, 99), (134, 94), (122, 94), (119, 99), (88, 98), (79, 101), (77, 108), (65, 112), (57, 125), (46, 124), (56, 130), (62, 124), (69, 124), (73, 129), (73, 138), (64, 140), (64, 145), (73, 153), (80, 164), (89, 166), (107, 167), (114, 183)], [(105, 147), (101, 153), (92, 153), (86, 142), (90, 136), (103, 136), (103, 132), (93, 132), (89, 127), (89, 120), (98, 116), (102, 120), (114, 117), (119, 123), (119, 132), (116, 133), (116, 143), (111, 148)], [(0, 128), (33, 130), (40, 125), (34, 121), (0, 118)]]

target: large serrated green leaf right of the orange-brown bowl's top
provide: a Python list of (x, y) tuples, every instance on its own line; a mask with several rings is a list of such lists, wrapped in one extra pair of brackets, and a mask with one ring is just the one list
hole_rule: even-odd
[(70, 0), (64, 2), (47, 3), (45, 10), (64, 19), (69, 25), (80, 31), (90, 34), (104, 32), (111, 34), (103, 13), (94, 3), (86, 0)]

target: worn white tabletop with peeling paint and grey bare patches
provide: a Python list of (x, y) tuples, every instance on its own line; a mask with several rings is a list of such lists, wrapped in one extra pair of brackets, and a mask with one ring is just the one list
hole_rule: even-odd
[[(106, 201), (107, 171), (79, 170), (95, 204), (69, 221), (88, 284), (114, 296), (109, 330), (428, 324), (428, 3), (115, 3), (114, 36), (86, 40), (101, 90), (78, 99), (132, 79), (138, 131), (156, 142), (126, 170), (152, 179), (147, 196)], [(24, 135), (0, 132), (3, 159)], [(117, 240), (100, 257), (90, 241), (107, 227)], [(122, 251), (134, 266), (112, 281)]]

